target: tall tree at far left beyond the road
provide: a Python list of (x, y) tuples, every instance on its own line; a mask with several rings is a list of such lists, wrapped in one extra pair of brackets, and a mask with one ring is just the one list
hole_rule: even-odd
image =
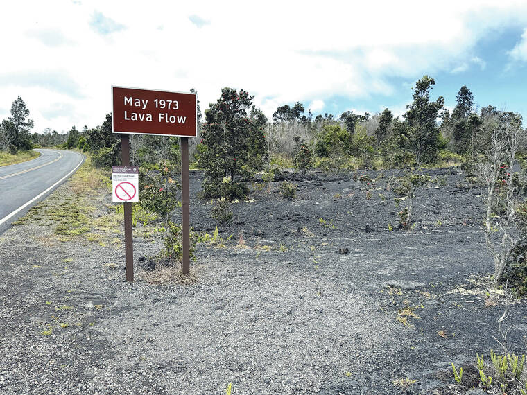
[(23, 150), (31, 149), (31, 132), (33, 129), (33, 119), (28, 119), (29, 110), (26, 103), (20, 96), (17, 100), (12, 102), (11, 116), (7, 123), (3, 123), (4, 133), (7, 134), (7, 139), (15, 146)]

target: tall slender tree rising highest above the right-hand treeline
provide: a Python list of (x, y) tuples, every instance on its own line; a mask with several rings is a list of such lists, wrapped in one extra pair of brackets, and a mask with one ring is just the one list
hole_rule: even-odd
[(444, 105), (443, 96), (437, 100), (430, 100), (430, 90), (435, 85), (435, 80), (429, 76), (422, 76), (415, 82), (413, 90), (413, 103), (407, 105), (408, 111), (404, 118), (408, 123), (408, 139), (406, 140), (417, 166), (424, 161), (435, 159), (440, 148), (440, 135), (436, 119)]

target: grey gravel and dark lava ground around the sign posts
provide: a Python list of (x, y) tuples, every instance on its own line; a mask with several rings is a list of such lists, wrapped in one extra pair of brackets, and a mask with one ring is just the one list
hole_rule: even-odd
[[(142, 275), (143, 257), (161, 248), (142, 225), (135, 283), (124, 282), (122, 227), (96, 240), (87, 235), (100, 229), (54, 234), (45, 210), (78, 193), (64, 184), (0, 238), (0, 392), (463, 393), (449, 367), (469, 371), (476, 353), (500, 349), (503, 295), (483, 285), (481, 191), (457, 170), (429, 173), (447, 185), (418, 192), (409, 232), (396, 226), (390, 172), (370, 199), (349, 173), (282, 176), (298, 185), (291, 202), (278, 182), (254, 185), (221, 241), (198, 245), (193, 281), (164, 286)], [(210, 233), (201, 179), (191, 174), (191, 222)], [(114, 211), (110, 200), (98, 191), (80, 203), (95, 221)], [(508, 318), (517, 353), (526, 315), (521, 302)]]

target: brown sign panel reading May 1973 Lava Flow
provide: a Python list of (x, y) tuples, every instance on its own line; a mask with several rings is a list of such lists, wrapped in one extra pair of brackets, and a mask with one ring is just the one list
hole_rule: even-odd
[(112, 87), (112, 132), (196, 137), (196, 94)]

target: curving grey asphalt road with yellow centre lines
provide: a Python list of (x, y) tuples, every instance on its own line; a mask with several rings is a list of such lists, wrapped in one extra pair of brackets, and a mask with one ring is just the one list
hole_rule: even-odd
[(84, 161), (78, 152), (36, 151), (42, 154), (36, 159), (0, 167), (0, 234), (53, 192)]

